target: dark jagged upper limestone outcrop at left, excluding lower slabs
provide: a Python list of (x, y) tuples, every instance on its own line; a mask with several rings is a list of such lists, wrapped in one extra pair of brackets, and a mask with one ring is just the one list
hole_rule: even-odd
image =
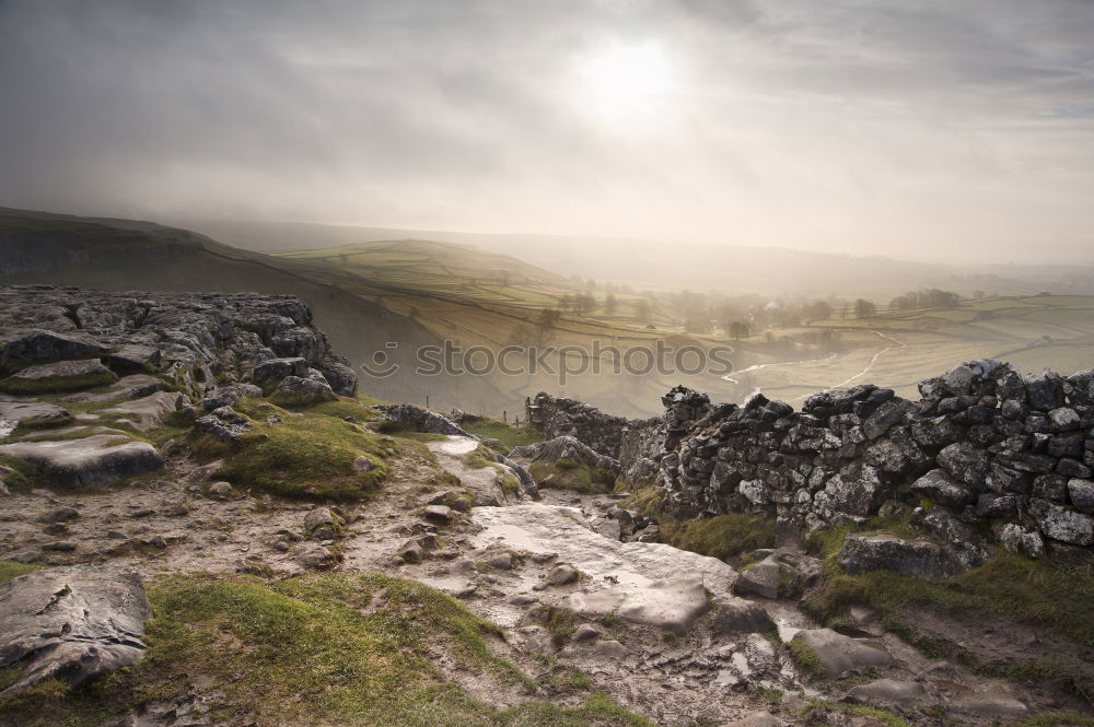
[[(312, 312), (292, 295), (104, 293), (51, 285), (0, 286), (0, 337), (8, 373), (38, 360), (103, 354), (118, 371), (178, 371), (212, 390), (218, 378), (314, 380), (352, 396), (357, 375), (330, 352)], [(94, 351), (46, 350), (35, 331), (74, 336)], [(39, 337), (40, 338), (40, 337)], [(53, 337), (56, 339), (57, 337)], [(21, 351), (27, 348), (26, 355)], [(286, 368), (284, 372), (274, 371)], [(290, 387), (299, 382), (290, 380)], [(307, 388), (306, 385), (304, 388)]]

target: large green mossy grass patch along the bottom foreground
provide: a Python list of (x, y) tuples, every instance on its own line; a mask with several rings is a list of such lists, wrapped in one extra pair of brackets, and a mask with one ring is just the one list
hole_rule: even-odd
[(569, 710), (526, 702), (498, 711), (473, 700), (432, 666), (437, 649), (461, 671), (508, 684), (500, 689), (536, 684), (491, 654), (487, 640), (500, 629), (422, 584), (383, 575), (277, 583), (194, 575), (150, 586), (149, 598), (149, 650), (135, 667), (85, 689), (49, 682), (0, 697), (0, 723), (93, 727), (211, 682), (208, 716), (226, 726), (652, 727), (603, 694)]

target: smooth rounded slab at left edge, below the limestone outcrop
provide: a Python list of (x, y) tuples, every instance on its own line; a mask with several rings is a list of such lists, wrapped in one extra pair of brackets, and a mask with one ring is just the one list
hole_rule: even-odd
[(39, 465), (47, 476), (70, 486), (109, 484), (163, 467), (163, 458), (152, 445), (109, 434), (5, 444), (0, 445), (0, 454)]

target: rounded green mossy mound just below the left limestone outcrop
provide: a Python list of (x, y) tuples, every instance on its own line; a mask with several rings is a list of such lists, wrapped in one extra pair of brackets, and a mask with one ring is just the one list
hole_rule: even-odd
[[(264, 413), (254, 406), (246, 411)], [(201, 437), (195, 450), (205, 458), (226, 457), (218, 477), (240, 488), (339, 501), (361, 500), (379, 490), (386, 467), (377, 436), (323, 414), (279, 415), (281, 423), (256, 422), (234, 445)], [(353, 460), (361, 456), (373, 464), (368, 472), (353, 470)]]

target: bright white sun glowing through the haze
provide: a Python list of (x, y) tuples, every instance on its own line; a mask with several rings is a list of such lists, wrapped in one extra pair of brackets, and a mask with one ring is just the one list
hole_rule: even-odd
[(665, 55), (655, 43), (615, 45), (589, 58), (581, 70), (587, 108), (608, 121), (649, 119), (672, 85)]

